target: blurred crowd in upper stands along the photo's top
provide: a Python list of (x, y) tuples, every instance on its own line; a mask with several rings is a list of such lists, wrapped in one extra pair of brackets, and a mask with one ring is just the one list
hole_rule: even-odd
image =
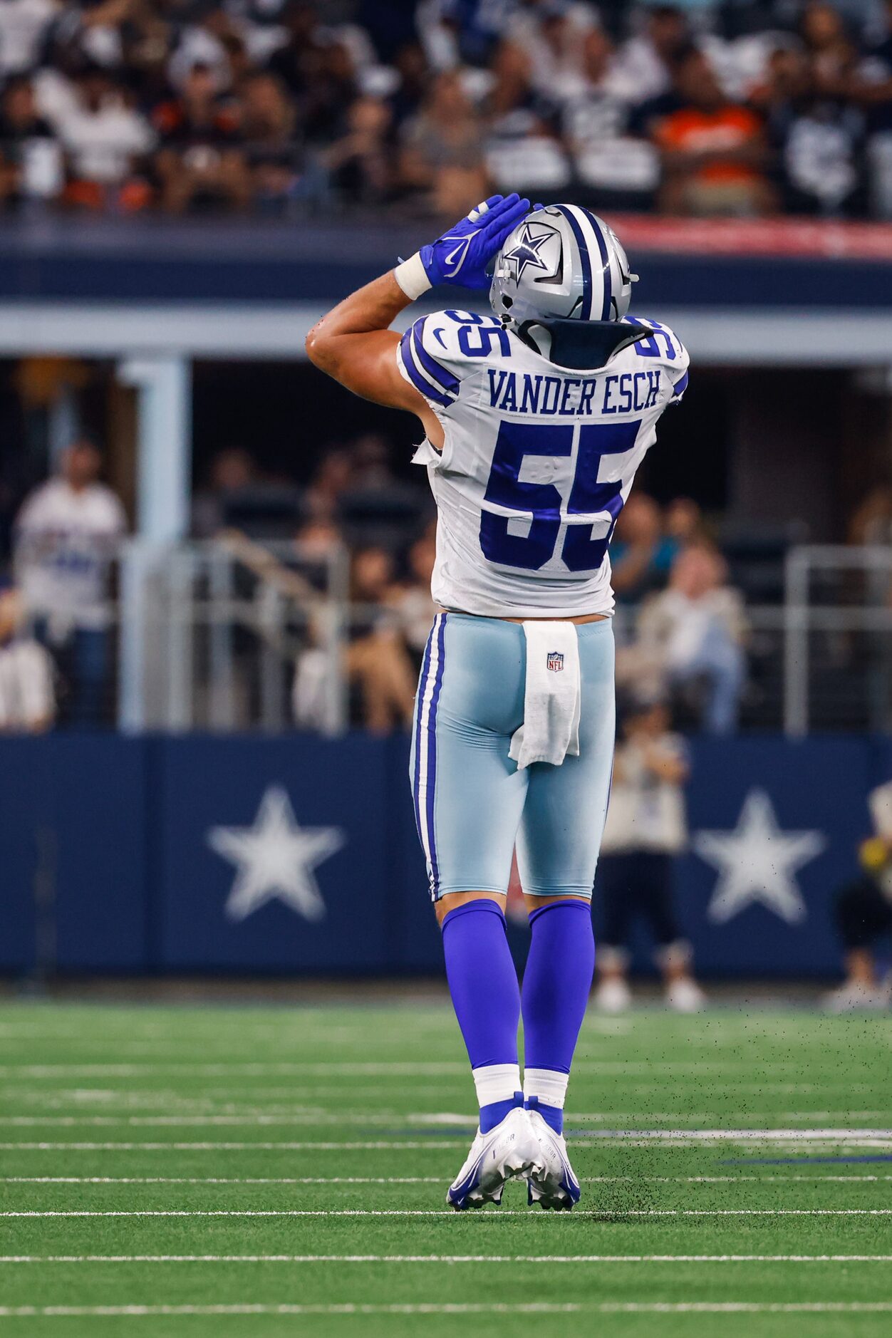
[(892, 217), (892, 0), (0, 0), (0, 202)]

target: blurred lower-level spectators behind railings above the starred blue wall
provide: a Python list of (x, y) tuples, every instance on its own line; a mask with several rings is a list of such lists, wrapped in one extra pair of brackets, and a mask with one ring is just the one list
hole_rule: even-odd
[[(114, 723), (115, 563), (128, 522), (102, 471), (94, 442), (72, 442), (15, 518), (0, 587), (0, 729)], [(229, 555), (231, 593), (246, 607), (259, 609), (273, 591), (288, 610), (294, 724), (336, 723), (328, 719), (336, 611), (350, 723), (378, 733), (409, 725), (435, 614), (436, 516), (427, 487), (393, 471), (385, 438), (330, 447), (302, 488), (263, 474), (247, 451), (221, 451), (195, 492), (191, 529)], [(611, 553), (623, 698), (666, 702), (683, 728), (734, 731), (746, 686), (744, 597), (697, 503), (661, 507), (634, 494)], [(254, 621), (259, 629), (259, 613)], [(237, 642), (246, 680), (258, 645), (255, 634)]]

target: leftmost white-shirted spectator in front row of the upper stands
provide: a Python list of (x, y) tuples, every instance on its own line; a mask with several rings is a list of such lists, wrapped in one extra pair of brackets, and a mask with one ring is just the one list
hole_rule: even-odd
[(131, 106), (123, 84), (99, 66), (79, 75), (75, 91), (76, 107), (56, 126), (68, 159), (66, 202), (87, 209), (144, 207), (150, 191), (140, 169), (155, 142), (151, 126)]

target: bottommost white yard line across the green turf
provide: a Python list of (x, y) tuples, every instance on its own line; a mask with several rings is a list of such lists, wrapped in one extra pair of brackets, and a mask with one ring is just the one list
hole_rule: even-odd
[(682, 1302), (428, 1302), (421, 1305), (243, 1305), (243, 1306), (0, 1306), (7, 1319), (175, 1315), (559, 1315), (559, 1314), (888, 1314), (892, 1301), (682, 1301)]

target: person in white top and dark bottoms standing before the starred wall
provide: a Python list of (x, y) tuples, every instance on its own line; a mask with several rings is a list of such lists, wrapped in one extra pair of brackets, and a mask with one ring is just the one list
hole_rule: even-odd
[(595, 1004), (606, 1013), (622, 1013), (631, 1004), (626, 973), (630, 931), (638, 918), (653, 934), (669, 1006), (695, 1013), (706, 1002), (690, 973), (690, 943), (673, 907), (673, 863), (687, 846), (687, 772), (685, 743), (670, 733), (663, 702), (633, 702), (622, 719), (595, 878), (604, 915)]

